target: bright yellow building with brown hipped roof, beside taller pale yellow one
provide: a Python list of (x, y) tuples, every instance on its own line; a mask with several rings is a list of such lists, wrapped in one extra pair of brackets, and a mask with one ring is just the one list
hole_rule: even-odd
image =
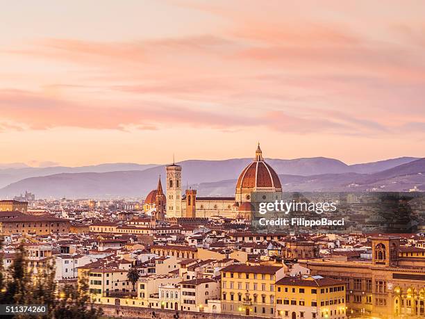
[(276, 315), (284, 319), (344, 319), (344, 281), (314, 277), (283, 277), (276, 282)]

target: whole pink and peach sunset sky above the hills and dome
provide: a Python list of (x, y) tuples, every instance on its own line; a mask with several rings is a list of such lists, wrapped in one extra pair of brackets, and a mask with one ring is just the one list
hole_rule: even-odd
[(424, 1), (9, 1), (0, 163), (425, 156)]

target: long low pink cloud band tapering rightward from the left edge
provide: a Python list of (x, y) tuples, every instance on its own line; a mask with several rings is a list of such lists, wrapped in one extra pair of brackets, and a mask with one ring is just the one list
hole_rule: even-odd
[[(94, 106), (96, 104), (97, 106)], [(117, 105), (118, 104), (118, 105)], [(256, 119), (237, 118), (209, 110), (170, 106), (152, 101), (132, 101), (123, 104), (107, 99), (87, 103), (48, 98), (36, 92), (0, 90), (0, 116), (26, 124), (31, 129), (74, 126), (89, 129), (157, 129), (161, 126), (226, 126), (254, 124)]]

